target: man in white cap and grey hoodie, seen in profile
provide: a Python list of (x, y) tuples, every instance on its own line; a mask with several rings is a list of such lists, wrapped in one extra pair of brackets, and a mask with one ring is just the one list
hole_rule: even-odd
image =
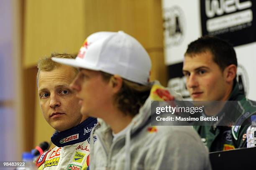
[(136, 39), (122, 31), (97, 32), (76, 59), (52, 60), (79, 68), (71, 86), (82, 114), (98, 118), (90, 170), (211, 169), (192, 127), (151, 126), (151, 101), (181, 98), (157, 81), (149, 83), (151, 60)]

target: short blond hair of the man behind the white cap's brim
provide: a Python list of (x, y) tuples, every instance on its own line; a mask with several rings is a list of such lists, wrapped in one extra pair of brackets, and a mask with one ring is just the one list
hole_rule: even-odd
[[(52, 53), (51, 56), (47, 56), (44, 58), (40, 58), (37, 62), (37, 76), (36, 76), (36, 82), (38, 86), (38, 78), (40, 71), (52, 71), (53, 69), (56, 69), (61, 66), (61, 64), (56, 63), (51, 60), (52, 57), (57, 57), (57, 58), (76, 58), (76, 55), (74, 54), (67, 54), (67, 53)], [(78, 73), (78, 70), (74, 68), (74, 75), (76, 76)]]

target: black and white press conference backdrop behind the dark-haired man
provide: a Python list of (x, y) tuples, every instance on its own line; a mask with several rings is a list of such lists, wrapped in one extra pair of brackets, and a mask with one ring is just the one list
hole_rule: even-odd
[(189, 99), (182, 61), (187, 45), (204, 35), (233, 44), (238, 58), (238, 83), (249, 99), (256, 100), (256, 1), (162, 0), (164, 56), (168, 86)]

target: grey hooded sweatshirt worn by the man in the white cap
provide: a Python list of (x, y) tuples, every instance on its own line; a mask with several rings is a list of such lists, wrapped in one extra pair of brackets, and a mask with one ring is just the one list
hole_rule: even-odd
[[(209, 155), (197, 132), (188, 126), (151, 126), (151, 101), (161, 99), (152, 86), (151, 94), (133, 117), (125, 134), (113, 142), (112, 130), (102, 119), (91, 133), (90, 170), (211, 170)], [(176, 100), (182, 97), (171, 89)]]

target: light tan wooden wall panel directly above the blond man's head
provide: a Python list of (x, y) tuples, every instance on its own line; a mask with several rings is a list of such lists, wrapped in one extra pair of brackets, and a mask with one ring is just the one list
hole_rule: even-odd
[(52, 52), (77, 53), (85, 37), (84, 0), (27, 0), (23, 66)]

